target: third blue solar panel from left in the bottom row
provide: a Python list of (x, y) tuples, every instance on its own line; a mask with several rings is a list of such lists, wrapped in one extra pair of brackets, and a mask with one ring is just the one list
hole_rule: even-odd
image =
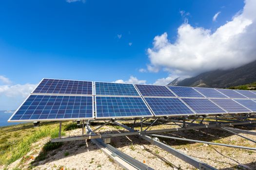
[(195, 114), (178, 98), (144, 98), (156, 116)]

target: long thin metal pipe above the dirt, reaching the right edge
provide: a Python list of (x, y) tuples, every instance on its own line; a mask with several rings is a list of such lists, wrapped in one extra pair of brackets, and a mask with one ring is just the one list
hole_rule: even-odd
[(150, 136), (163, 137), (163, 138), (169, 138), (169, 139), (175, 139), (175, 140), (183, 140), (183, 141), (188, 141), (188, 142), (206, 143), (206, 144), (209, 144), (209, 145), (219, 145), (219, 146), (226, 146), (226, 147), (239, 148), (239, 149), (248, 149), (248, 150), (255, 150), (256, 151), (256, 148), (250, 148), (250, 147), (244, 147), (244, 146), (228, 145), (228, 144), (214, 143), (214, 142), (205, 142), (205, 141), (201, 141), (201, 140), (193, 140), (193, 139), (186, 139), (186, 138), (172, 137), (172, 136), (163, 136), (163, 135), (155, 135), (155, 134), (152, 134)]

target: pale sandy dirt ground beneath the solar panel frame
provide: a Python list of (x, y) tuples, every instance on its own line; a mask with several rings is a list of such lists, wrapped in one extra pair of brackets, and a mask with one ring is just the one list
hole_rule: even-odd
[[(98, 125), (92, 126), (92, 128), (96, 128), (97, 126)], [(157, 125), (152, 127), (152, 129), (170, 127), (162, 127), (162, 125)], [(99, 131), (100, 133), (105, 134), (126, 132), (123, 128), (111, 125), (104, 126)], [(252, 131), (256, 132), (256, 130)], [(80, 128), (68, 131), (66, 133), (67, 136), (75, 136), (80, 134)], [(230, 134), (229, 132), (214, 129), (189, 130), (175, 133), (164, 133), (161, 135), (185, 137), (195, 140), (253, 148), (256, 147), (254, 142), (248, 141), (240, 136)], [(256, 136), (245, 134), (241, 135), (256, 140)], [(17, 160), (11, 164), (8, 169), (13, 169), (17, 166), (24, 170), (28, 168), (33, 170), (122, 169), (104, 153), (102, 153), (96, 145), (90, 143), (90, 140), (64, 142), (60, 148), (48, 152), (45, 160), (36, 162), (31, 166), (30, 163), (38, 156), (41, 148), (48, 140), (49, 138), (45, 138), (35, 143), (33, 145), (33, 150), (26, 156), (28, 159), (25, 161), (24, 159)], [(255, 151), (185, 142), (180, 140), (177, 141), (166, 138), (159, 138), (159, 140), (220, 170), (256, 170)], [(156, 170), (195, 170), (195, 168), (188, 163), (154, 145), (151, 145), (149, 142), (139, 138), (138, 136), (114, 137), (111, 138), (110, 144), (118, 148), (118, 150), (122, 151), (123, 153), (130, 155), (131, 157)]]

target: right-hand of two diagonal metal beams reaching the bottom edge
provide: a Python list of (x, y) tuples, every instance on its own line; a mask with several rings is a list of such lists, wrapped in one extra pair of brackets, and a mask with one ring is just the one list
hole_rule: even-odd
[[(117, 122), (117, 121), (115, 121), (115, 123), (116, 123), (117, 125), (119, 125), (119, 126), (125, 128), (125, 129), (127, 129), (128, 131), (131, 131), (131, 132), (134, 131), (132, 128), (129, 128), (129, 127), (127, 127), (127, 126), (125, 126), (125, 125), (123, 125), (123, 124)], [(187, 154), (185, 154), (185, 153), (182, 153), (182, 152), (180, 152), (180, 151), (178, 151), (178, 150), (176, 150), (176, 149), (174, 149), (174, 148), (172, 148), (172, 147), (170, 147), (170, 146), (168, 146), (168, 145), (166, 145), (166, 144), (164, 144), (164, 143), (162, 143), (162, 142), (159, 142), (158, 140), (152, 139), (152, 138), (149, 137), (149, 136), (139, 135), (139, 137), (141, 137), (141, 138), (143, 138), (143, 139), (149, 141), (149, 142), (152, 143), (153, 145), (156, 145), (156, 146), (158, 146), (159, 148), (161, 148), (161, 149), (163, 149), (163, 150), (165, 150), (165, 151), (167, 151), (167, 152), (169, 152), (169, 153), (171, 153), (171, 154), (177, 156), (177, 157), (180, 158), (181, 160), (183, 160), (183, 161), (189, 163), (190, 165), (192, 165), (192, 166), (198, 168), (199, 170), (217, 170), (216, 168), (211, 167), (210, 165), (207, 165), (207, 164), (205, 164), (205, 163), (203, 163), (203, 162), (197, 160), (196, 158), (193, 158), (193, 157), (191, 157), (191, 156), (189, 156), (189, 155), (187, 155)]]

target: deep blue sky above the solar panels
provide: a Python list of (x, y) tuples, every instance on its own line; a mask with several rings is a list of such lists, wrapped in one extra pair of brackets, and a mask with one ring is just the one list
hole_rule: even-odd
[[(0, 89), (28, 89), (45, 77), (125, 82), (133, 76), (147, 84), (171, 80), (185, 74), (155, 61), (148, 49), (158, 52), (162, 45), (154, 38), (166, 33), (162, 38), (176, 44), (184, 24), (214, 33), (244, 5), (243, 0), (1, 1)], [(5, 101), (0, 110), (16, 109), (24, 96), (0, 90), (0, 102)]]

